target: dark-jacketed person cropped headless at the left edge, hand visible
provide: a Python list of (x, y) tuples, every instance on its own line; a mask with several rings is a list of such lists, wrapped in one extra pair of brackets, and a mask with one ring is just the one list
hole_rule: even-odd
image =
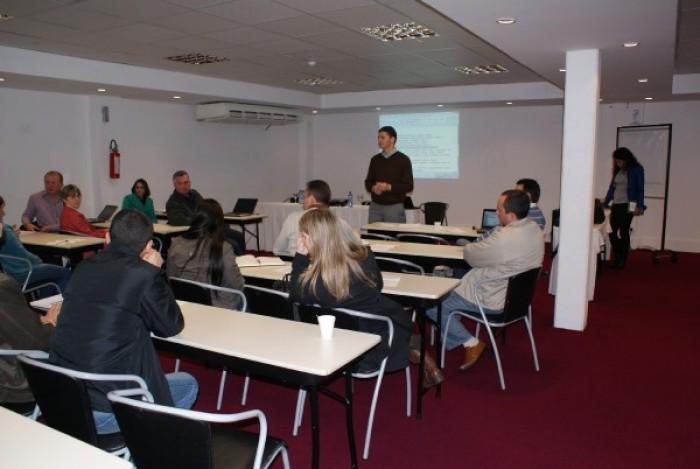
[[(1, 228), (1, 227), (0, 227)], [(0, 230), (0, 245), (4, 241)], [(49, 339), (60, 311), (54, 305), (45, 316), (27, 305), (19, 284), (0, 273), (0, 349), (49, 350)], [(18, 412), (29, 411), (34, 402), (29, 384), (14, 358), (0, 358), (0, 405)]]

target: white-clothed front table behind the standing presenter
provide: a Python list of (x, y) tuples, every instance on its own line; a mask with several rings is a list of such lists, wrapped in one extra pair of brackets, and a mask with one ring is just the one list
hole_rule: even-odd
[[(360, 229), (369, 220), (369, 205), (353, 205), (352, 207), (330, 207), (338, 217), (342, 218), (354, 229)], [(260, 230), (260, 247), (264, 251), (272, 251), (275, 240), (282, 230), (282, 224), (290, 213), (301, 211), (300, 204), (288, 202), (258, 202), (255, 210), (267, 216)], [(423, 221), (423, 212), (418, 209), (406, 210), (408, 223)]]

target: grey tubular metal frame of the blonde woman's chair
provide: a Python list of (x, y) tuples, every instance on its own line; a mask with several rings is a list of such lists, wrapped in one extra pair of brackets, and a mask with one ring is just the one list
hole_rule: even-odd
[[(386, 324), (387, 329), (389, 331), (389, 338), (388, 338), (388, 345), (389, 348), (391, 348), (391, 344), (394, 340), (394, 325), (391, 322), (391, 319), (389, 319), (386, 316), (379, 316), (377, 314), (370, 314), (370, 313), (365, 313), (362, 311), (355, 311), (351, 309), (344, 309), (344, 308), (333, 308), (333, 309), (326, 309), (326, 308), (321, 308), (318, 305), (313, 305), (313, 306), (300, 306), (300, 308), (313, 308), (316, 310), (324, 310), (324, 311), (330, 311), (331, 313), (336, 314), (336, 318), (339, 318), (339, 316), (346, 316), (348, 318), (351, 318), (353, 320), (357, 320), (358, 318), (366, 319), (366, 320), (371, 320), (371, 321), (379, 321), (383, 322)], [(340, 319), (340, 318), (339, 318)], [(347, 322), (345, 323), (346, 325), (348, 324)], [(342, 324), (341, 324), (342, 326)], [(337, 325), (336, 325), (337, 327)], [(365, 446), (364, 450), (362, 452), (362, 458), (367, 459), (369, 457), (369, 448), (370, 448), (370, 442), (372, 439), (372, 428), (374, 426), (374, 414), (377, 409), (377, 401), (379, 400), (379, 390), (382, 386), (382, 381), (384, 379), (384, 370), (386, 368), (386, 361), (387, 357), (384, 357), (384, 359), (381, 362), (381, 365), (379, 368), (375, 371), (368, 372), (368, 373), (360, 373), (356, 372), (352, 374), (353, 378), (357, 379), (372, 379), (376, 378), (376, 382), (374, 384), (374, 392), (372, 393), (372, 403), (370, 404), (369, 408), (369, 416), (367, 418), (367, 430), (365, 432)], [(405, 368), (405, 374), (406, 374), (406, 416), (410, 417), (411, 416), (411, 366), (407, 366)], [(306, 391), (304, 389), (299, 390), (299, 395), (297, 396), (297, 407), (296, 407), (296, 412), (294, 414), (294, 430), (292, 434), (296, 436), (299, 431), (299, 427), (301, 426), (301, 420), (304, 415), (304, 401), (306, 400)]]

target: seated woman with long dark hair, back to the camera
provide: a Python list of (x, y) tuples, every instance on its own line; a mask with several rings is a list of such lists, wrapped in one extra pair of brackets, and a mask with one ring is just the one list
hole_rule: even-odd
[[(190, 229), (173, 238), (168, 249), (168, 275), (242, 291), (245, 282), (224, 227), (224, 211), (219, 202), (214, 199), (200, 202)], [(211, 294), (212, 304), (222, 308), (238, 309), (239, 300), (233, 293), (212, 291)]]

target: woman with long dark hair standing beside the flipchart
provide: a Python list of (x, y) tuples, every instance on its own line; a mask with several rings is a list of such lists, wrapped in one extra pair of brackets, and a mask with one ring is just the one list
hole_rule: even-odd
[[(644, 167), (626, 147), (613, 152), (613, 176), (605, 196), (605, 206), (610, 207), (610, 244), (613, 249), (612, 268), (622, 269), (630, 250), (630, 225), (632, 217), (643, 215)], [(612, 202), (612, 206), (610, 203)]]

